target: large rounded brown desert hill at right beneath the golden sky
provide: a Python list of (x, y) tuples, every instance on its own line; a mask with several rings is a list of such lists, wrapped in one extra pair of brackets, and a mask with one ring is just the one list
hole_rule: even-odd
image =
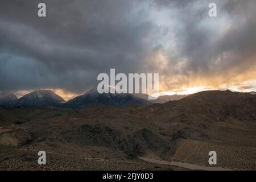
[(249, 93), (200, 92), (143, 111), (148, 119), (176, 131), (176, 139), (256, 147), (256, 97)]

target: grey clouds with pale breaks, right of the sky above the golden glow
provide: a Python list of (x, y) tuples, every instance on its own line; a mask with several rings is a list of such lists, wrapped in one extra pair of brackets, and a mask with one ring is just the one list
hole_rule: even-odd
[[(210, 2), (217, 4), (216, 18), (208, 16)], [(189, 84), (195, 77), (212, 77), (214, 82), (214, 77), (222, 76), (223, 80), (228, 81), (255, 67), (256, 1), (189, 1), (187, 3), (162, 0), (155, 3), (160, 10), (169, 7), (177, 9), (176, 16), (170, 17), (179, 19), (179, 24), (173, 30), (179, 53), (174, 57), (172, 52), (166, 51), (164, 47), (163, 52), (168, 57), (167, 72), (175, 74), (179, 72), (181, 76), (186, 77), (187, 83), (183, 82), (183, 84)], [(183, 59), (187, 60), (186, 64), (181, 69), (177, 67), (179, 70), (176, 70), (176, 65)], [(256, 78), (256, 75), (252, 75), (251, 78)], [(173, 83), (170, 84), (174, 86)]]

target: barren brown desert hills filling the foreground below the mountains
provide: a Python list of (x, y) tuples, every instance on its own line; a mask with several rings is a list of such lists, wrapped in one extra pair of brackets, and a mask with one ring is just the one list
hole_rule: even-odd
[[(23, 156), (24, 148), (43, 148), (53, 161), (61, 156), (63, 164), (58, 162), (53, 169), (65, 166), (69, 158), (72, 165), (80, 161), (76, 168), (88, 169), (88, 162), (100, 158), (99, 169), (110, 169), (106, 166), (117, 160), (119, 168), (130, 169), (122, 162), (139, 165), (139, 156), (207, 166), (210, 150), (217, 152), (220, 167), (256, 169), (255, 101), (254, 95), (226, 90), (200, 92), (148, 107), (9, 109), (3, 116), (15, 115), (20, 122), (0, 123), (10, 130), (0, 133), (0, 148), (2, 144), (6, 151), (6, 144), (18, 144), (15, 150), (19, 152), (11, 153), (14, 156)], [(24, 137), (17, 140), (16, 133)], [(0, 159), (9, 155), (3, 152)], [(5, 160), (2, 168), (9, 163), (11, 160)], [(33, 165), (26, 163), (24, 168)]]

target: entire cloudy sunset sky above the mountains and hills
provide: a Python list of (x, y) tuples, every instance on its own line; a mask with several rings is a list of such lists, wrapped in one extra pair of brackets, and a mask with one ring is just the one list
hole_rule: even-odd
[(255, 17), (255, 0), (1, 0), (0, 92), (67, 100), (110, 68), (159, 73), (164, 94), (256, 91)]

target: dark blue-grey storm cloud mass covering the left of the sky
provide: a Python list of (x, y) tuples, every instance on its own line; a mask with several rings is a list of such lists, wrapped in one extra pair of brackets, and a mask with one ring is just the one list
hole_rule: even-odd
[(44, 1), (47, 18), (37, 16), (39, 2), (1, 1), (1, 89), (82, 90), (110, 68), (140, 67), (153, 25), (135, 22), (133, 1)]

